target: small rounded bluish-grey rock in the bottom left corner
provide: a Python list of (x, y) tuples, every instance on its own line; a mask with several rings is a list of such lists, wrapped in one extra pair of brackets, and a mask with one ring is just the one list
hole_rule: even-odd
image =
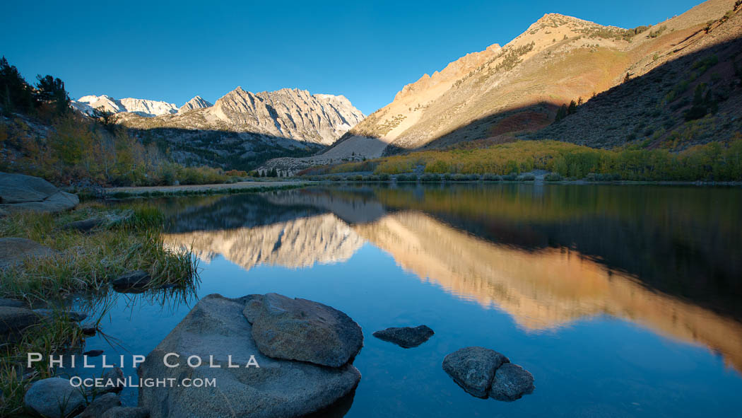
[(79, 388), (59, 377), (35, 382), (23, 400), (26, 408), (45, 418), (64, 418), (85, 406), (85, 397)]

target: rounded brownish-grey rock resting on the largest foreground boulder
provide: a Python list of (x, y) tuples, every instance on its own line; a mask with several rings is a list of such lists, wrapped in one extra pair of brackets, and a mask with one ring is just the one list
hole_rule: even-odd
[(361, 351), (364, 334), (335, 308), (278, 293), (250, 295), (245, 317), (260, 353), (275, 359), (340, 367)]

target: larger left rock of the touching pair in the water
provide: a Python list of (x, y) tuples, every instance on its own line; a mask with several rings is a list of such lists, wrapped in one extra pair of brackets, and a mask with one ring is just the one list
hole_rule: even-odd
[(508, 357), (485, 347), (466, 347), (450, 353), (443, 359), (443, 370), (459, 384), (464, 391), (480, 398), (487, 397), (492, 385), (495, 370)]

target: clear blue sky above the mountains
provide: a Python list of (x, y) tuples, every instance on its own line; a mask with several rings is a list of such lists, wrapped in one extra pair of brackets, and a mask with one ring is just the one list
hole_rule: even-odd
[(544, 13), (654, 24), (700, 0), (4, 1), (0, 54), (28, 81), (183, 105), (248, 91), (344, 94), (369, 114), (422, 74), (505, 45)]

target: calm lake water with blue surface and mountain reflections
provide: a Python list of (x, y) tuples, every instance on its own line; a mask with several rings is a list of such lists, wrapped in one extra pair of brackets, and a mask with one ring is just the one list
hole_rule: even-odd
[[(165, 243), (200, 258), (197, 295), (116, 295), (102, 322), (116, 344), (87, 350), (145, 355), (198, 297), (276, 292), (363, 328), (346, 417), (742, 414), (742, 189), (346, 186), (157, 204)], [(371, 335), (418, 324), (436, 334), (408, 350)], [(536, 391), (464, 392), (441, 361), (470, 345), (530, 370)]]

